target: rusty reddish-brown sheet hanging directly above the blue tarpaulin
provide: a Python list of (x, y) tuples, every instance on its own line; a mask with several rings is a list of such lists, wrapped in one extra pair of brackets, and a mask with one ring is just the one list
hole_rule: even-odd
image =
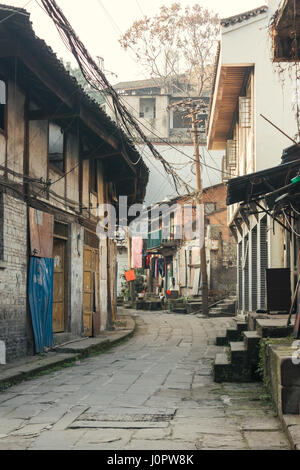
[(31, 256), (53, 258), (53, 215), (30, 207), (29, 227)]

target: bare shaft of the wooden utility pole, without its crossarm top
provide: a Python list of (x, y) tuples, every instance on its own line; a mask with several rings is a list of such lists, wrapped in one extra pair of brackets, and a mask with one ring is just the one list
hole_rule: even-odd
[[(199, 155), (199, 134), (197, 129), (196, 122), (196, 109), (193, 105), (192, 110), (192, 125), (193, 125), (193, 135), (194, 135), (194, 148), (195, 148), (195, 160), (196, 160), (196, 182), (197, 190), (199, 193), (198, 201), (199, 204), (204, 206), (203, 198), (203, 187), (201, 180), (201, 165), (200, 165), (200, 155)], [(203, 224), (203, 225), (202, 225)], [(205, 249), (205, 219), (200, 216), (200, 229), (203, 228), (203, 246), (200, 248), (200, 269), (202, 277), (202, 313), (208, 315), (208, 278), (207, 278), (207, 263), (206, 263), (206, 249)]]

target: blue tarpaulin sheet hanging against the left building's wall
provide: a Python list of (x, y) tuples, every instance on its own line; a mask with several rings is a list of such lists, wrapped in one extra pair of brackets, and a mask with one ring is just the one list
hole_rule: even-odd
[(53, 346), (53, 259), (31, 258), (28, 296), (37, 353)]

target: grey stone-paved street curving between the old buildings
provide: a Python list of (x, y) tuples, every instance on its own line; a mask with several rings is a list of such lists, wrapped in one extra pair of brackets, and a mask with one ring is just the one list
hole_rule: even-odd
[(215, 384), (231, 319), (142, 313), (128, 342), (0, 394), (0, 450), (288, 449), (260, 384)]

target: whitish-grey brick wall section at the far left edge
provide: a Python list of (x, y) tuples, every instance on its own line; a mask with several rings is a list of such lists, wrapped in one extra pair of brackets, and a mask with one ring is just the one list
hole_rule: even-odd
[(2, 261), (0, 340), (6, 344), (7, 361), (10, 362), (27, 354), (27, 211), (24, 202), (8, 194), (3, 194), (2, 199), (2, 211), (0, 210), (3, 233), (3, 255), (0, 260)]

